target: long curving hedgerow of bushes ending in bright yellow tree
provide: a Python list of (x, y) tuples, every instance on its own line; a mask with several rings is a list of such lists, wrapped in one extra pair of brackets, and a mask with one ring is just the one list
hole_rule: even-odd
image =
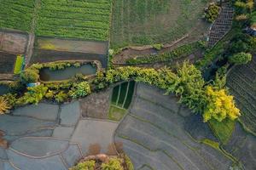
[(44, 98), (54, 98), (58, 102), (78, 99), (90, 94), (91, 91), (101, 90), (115, 82), (130, 79), (162, 88), (166, 90), (166, 94), (176, 94), (181, 103), (187, 105), (195, 113), (201, 113), (204, 122), (212, 118), (218, 122), (225, 118), (235, 120), (240, 116), (233, 97), (223, 87), (224, 77), (218, 77), (218, 80), (211, 84), (205, 82), (201, 71), (196, 69), (195, 65), (189, 65), (188, 62), (179, 65), (176, 71), (168, 68), (154, 70), (127, 66), (110, 69), (107, 73), (99, 71), (96, 78), (90, 82), (78, 80), (58, 85), (41, 84), (38, 87), (27, 88), (27, 92), (16, 99), (15, 105), (38, 103)]

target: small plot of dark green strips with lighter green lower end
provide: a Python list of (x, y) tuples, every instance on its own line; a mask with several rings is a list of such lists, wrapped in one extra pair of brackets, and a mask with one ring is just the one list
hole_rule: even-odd
[(119, 121), (126, 113), (131, 104), (134, 93), (135, 82), (123, 82), (113, 88), (111, 105), (108, 118), (113, 121)]

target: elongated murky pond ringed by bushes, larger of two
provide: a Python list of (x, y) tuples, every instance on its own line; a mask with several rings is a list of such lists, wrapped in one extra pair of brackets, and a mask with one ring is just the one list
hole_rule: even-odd
[(83, 74), (84, 76), (94, 75), (96, 74), (96, 67), (87, 64), (80, 67), (71, 66), (57, 71), (51, 71), (49, 68), (44, 68), (40, 71), (40, 79), (42, 81), (61, 81), (71, 79), (77, 74)]

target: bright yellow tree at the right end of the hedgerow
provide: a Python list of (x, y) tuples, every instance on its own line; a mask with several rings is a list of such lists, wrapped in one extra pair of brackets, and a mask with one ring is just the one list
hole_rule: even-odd
[(239, 109), (236, 108), (233, 96), (226, 94), (224, 89), (214, 90), (212, 86), (207, 86), (207, 107), (203, 112), (204, 122), (214, 118), (218, 122), (225, 118), (235, 120), (240, 116)]

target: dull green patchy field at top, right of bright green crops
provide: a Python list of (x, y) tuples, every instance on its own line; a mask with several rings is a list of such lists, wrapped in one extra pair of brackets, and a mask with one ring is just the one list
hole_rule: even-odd
[[(111, 47), (166, 43), (207, 31), (201, 15), (207, 1), (113, 0)], [(191, 31), (192, 30), (192, 31)]]

